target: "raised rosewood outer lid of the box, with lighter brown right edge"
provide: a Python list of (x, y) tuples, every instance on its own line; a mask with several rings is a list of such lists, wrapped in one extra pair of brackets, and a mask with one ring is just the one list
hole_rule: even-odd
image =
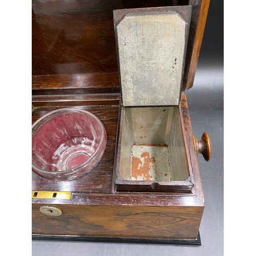
[[(36, 76), (32, 83), (33, 89), (38, 87), (35, 93), (42, 92), (47, 81), (56, 88), (63, 74), (70, 75), (65, 79), (73, 83), (76, 74), (90, 74), (90, 78), (94, 73), (110, 73), (114, 87), (119, 88), (113, 10), (183, 5), (193, 6), (182, 84), (185, 91), (193, 86), (209, 0), (32, 1), (32, 77)], [(83, 82), (89, 78), (78, 78), (80, 89), (75, 88), (76, 92), (82, 92)]]

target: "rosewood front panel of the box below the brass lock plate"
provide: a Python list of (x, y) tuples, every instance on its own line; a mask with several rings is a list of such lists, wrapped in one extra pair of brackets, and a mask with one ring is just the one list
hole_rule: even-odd
[(32, 206), (32, 233), (84, 237), (196, 239), (203, 206), (55, 205), (60, 216)]

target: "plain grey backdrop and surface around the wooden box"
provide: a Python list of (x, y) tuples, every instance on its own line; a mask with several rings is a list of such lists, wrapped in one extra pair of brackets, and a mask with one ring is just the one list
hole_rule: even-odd
[(223, 2), (211, 1), (194, 87), (186, 92), (195, 136), (207, 132), (212, 156), (199, 168), (205, 197), (202, 246), (32, 241), (32, 255), (223, 255)]

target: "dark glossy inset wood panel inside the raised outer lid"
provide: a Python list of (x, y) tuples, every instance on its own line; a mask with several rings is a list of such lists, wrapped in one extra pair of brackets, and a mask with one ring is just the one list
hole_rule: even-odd
[(32, 75), (117, 71), (113, 10), (170, 1), (32, 1)]

